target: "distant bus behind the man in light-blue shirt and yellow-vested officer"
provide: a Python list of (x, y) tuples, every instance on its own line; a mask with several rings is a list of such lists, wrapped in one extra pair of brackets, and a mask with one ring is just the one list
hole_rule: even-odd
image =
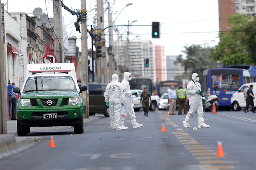
[(167, 81), (159, 82), (158, 86), (156, 88), (157, 94), (159, 97), (161, 97), (162, 94), (168, 93), (168, 90), (171, 89), (171, 86), (174, 86), (174, 90), (177, 91), (180, 85), (182, 85), (182, 82), (174, 81), (174, 80), (167, 80)]

